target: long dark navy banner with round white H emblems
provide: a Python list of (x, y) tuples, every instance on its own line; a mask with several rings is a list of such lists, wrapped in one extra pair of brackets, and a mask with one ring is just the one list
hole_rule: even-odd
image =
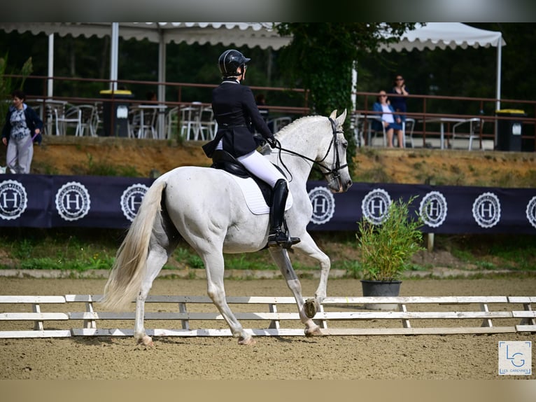
[[(127, 228), (153, 179), (103, 176), (0, 175), (1, 227)], [(411, 213), (425, 233), (536, 234), (536, 189), (354, 183), (333, 194), (307, 183), (309, 230), (358, 230), (381, 224), (390, 202), (415, 197)]]

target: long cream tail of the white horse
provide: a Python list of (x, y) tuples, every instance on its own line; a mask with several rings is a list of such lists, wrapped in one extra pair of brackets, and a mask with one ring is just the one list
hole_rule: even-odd
[(103, 307), (125, 310), (138, 295), (146, 270), (153, 222), (161, 210), (162, 191), (166, 185), (162, 178), (155, 181), (143, 197), (127, 236), (115, 254), (115, 263), (104, 286)]

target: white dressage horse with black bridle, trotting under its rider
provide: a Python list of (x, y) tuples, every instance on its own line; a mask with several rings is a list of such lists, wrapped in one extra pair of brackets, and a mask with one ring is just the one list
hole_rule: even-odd
[[(302, 240), (292, 249), (320, 263), (320, 284), (315, 297), (304, 302), (302, 286), (287, 250), (269, 248), (296, 299), (307, 336), (322, 335), (311, 318), (326, 297), (330, 258), (306, 232), (313, 212), (306, 181), (311, 167), (318, 165), (334, 193), (344, 192), (352, 184), (346, 165), (348, 143), (342, 132), (346, 111), (336, 116), (337, 111), (333, 111), (330, 118), (306, 116), (295, 120), (276, 134), (281, 150), (275, 149), (266, 156), (288, 172), (293, 204), (285, 213), (285, 219), (290, 234)], [(122, 310), (136, 298), (134, 338), (143, 345), (152, 345), (153, 340), (143, 327), (145, 300), (158, 272), (182, 236), (202, 258), (208, 294), (230, 326), (233, 337), (238, 338), (241, 345), (252, 344), (255, 341), (251, 333), (244, 331), (225, 300), (223, 254), (263, 249), (268, 230), (269, 215), (250, 212), (231, 174), (207, 167), (173, 169), (156, 179), (143, 197), (138, 214), (118, 249), (102, 303), (112, 310)]]

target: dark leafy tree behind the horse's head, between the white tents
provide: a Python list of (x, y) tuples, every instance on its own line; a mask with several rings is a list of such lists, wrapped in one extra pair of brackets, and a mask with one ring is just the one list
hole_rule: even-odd
[[(277, 26), (292, 42), (281, 53), (285, 72), (296, 87), (309, 90), (313, 113), (329, 116), (333, 109), (352, 111), (352, 67), (362, 55), (381, 43), (397, 41), (414, 23), (366, 22), (286, 22)], [(349, 115), (348, 115), (349, 116)], [(345, 131), (350, 132), (350, 119)], [(355, 153), (353, 136), (346, 135), (348, 155)], [(353, 169), (353, 161), (348, 160)]]

